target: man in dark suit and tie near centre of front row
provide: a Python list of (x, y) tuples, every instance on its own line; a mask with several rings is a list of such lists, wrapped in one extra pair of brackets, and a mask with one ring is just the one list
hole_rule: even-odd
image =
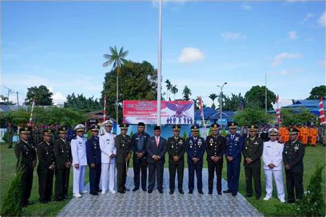
[(153, 137), (149, 138), (146, 145), (147, 163), (149, 163), (149, 194), (155, 186), (155, 173), (157, 176), (157, 190), (163, 194), (163, 172), (166, 152), (166, 139), (160, 137), (161, 128), (155, 126)]

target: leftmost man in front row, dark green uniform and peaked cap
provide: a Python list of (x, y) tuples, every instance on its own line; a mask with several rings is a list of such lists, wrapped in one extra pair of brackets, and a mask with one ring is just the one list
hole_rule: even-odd
[(33, 184), (33, 172), (36, 165), (36, 151), (35, 146), (28, 142), (30, 136), (30, 127), (21, 126), (19, 133), (19, 141), (17, 141), (14, 147), (14, 153), (17, 157), (17, 169), (21, 169), (22, 176), (22, 194), (21, 194), (21, 206), (33, 204), (28, 199), (32, 191)]

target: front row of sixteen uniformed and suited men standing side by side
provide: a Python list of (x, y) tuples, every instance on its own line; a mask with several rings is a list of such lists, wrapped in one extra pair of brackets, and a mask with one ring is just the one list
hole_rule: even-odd
[[(90, 194), (112, 194), (114, 190), (117, 170), (117, 190), (124, 194), (126, 187), (129, 159), (133, 152), (134, 187), (133, 192), (139, 190), (141, 185), (144, 192), (151, 194), (157, 181), (157, 190), (163, 194), (163, 174), (165, 154), (169, 154), (169, 187), (170, 194), (175, 191), (175, 176), (177, 176), (177, 189), (183, 191), (184, 153), (187, 152), (188, 161), (188, 193), (193, 194), (195, 189), (195, 174), (197, 177), (197, 191), (203, 194), (202, 168), (204, 152), (207, 152), (208, 163), (208, 194), (213, 194), (213, 180), (217, 176), (217, 194), (222, 194), (221, 174), (224, 155), (227, 163), (228, 189), (224, 193), (236, 196), (239, 187), (239, 174), (241, 154), (246, 175), (246, 196), (252, 196), (252, 179), (254, 193), (257, 199), (261, 197), (261, 159), (266, 180), (265, 201), (272, 197), (272, 177), (276, 181), (278, 198), (285, 202), (283, 187), (283, 166), (285, 166), (287, 202), (294, 203), (296, 198), (303, 196), (303, 155), (305, 147), (298, 141), (296, 128), (290, 128), (290, 141), (285, 144), (279, 142), (279, 131), (276, 128), (268, 130), (270, 141), (264, 142), (257, 135), (258, 127), (249, 128), (248, 137), (237, 133), (237, 124), (229, 124), (230, 134), (226, 137), (219, 135), (219, 124), (212, 124), (212, 135), (206, 139), (199, 137), (199, 126), (191, 126), (191, 137), (180, 137), (179, 125), (173, 125), (173, 137), (161, 137), (160, 126), (155, 126), (154, 136), (144, 131), (144, 123), (138, 123), (138, 132), (132, 137), (127, 135), (128, 124), (120, 124), (121, 134), (111, 133), (113, 123), (107, 120), (103, 123), (105, 133), (98, 136), (99, 126), (91, 128), (91, 138), (83, 137), (85, 126), (75, 126), (76, 137), (69, 142), (66, 139), (67, 129), (61, 127), (59, 138), (52, 143), (52, 129), (43, 131), (43, 141), (35, 147), (28, 142), (30, 128), (25, 126), (20, 131), (20, 140), (17, 142), (15, 152), (19, 160), (17, 165), (23, 168), (23, 194), (21, 205), (30, 204), (33, 170), (36, 166), (36, 152), (39, 159), (37, 173), (39, 176), (39, 196), (41, 203), (51, 201), (54, 174), (55, 200), (62, 201), (67, 198), (69, 171), (73, 168), (73, 195), (77, 198), (87, 193), (84, 190), (84, 181), (87, 165), (89, 166)], [(147, 168), (149, 171), (149, 185), (146, 188)], [(140, 179), (141, 177), (141, 179)], [(294, 194), (295, 192), (295, 194)]]

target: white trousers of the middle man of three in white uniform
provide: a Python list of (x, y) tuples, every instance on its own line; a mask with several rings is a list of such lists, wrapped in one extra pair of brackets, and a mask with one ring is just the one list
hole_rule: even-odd
[(109, 190), (114, 188), (114, 179), (116, 176), (116, 163), (102, 163), (101, 165), (101, 186), (102, 191), (107, 191), (107, 185), (109, 184)]

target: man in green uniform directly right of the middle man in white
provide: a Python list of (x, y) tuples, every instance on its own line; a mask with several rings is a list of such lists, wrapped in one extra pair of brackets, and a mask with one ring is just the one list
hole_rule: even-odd
[(129, 125), (120, 124), (121, 134), (115, 139), (117, 149), (116, 165), (117, 165), (117, 187), (121, 194), (128, 192), (126, 187), (128, 161), (131, 157), (131, 138), (127, 135)]

